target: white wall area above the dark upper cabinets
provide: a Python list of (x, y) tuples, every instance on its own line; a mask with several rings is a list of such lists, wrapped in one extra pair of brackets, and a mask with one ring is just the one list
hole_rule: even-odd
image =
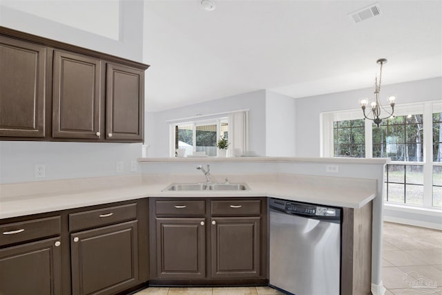
[[(77, 11), (70, 11), (67, 9), (69, 6), (66, 6), (69, 2), (73, 1), (64, 2), (66, 2), (64, 6), (57, 6), (54, 4), (54, 1), (49, 0), (2, 0), (0, 2), (0, 26), (119, 57), (125, 57), (127, 59), (133, 59), (135, 61), (142, 61), (143, 1), (119, 1), (119, 19), (110, 20), (119, 23), (119, 32), (117, 32), (117, 35), (119, 35), (118, 40), (93, 34), (86, 30), (68, 26), (61, 21), (52, 21), (40, 16), (46, 15), (48, 10), (53, 10), (54, 14), (59, 15), (59, 19), (62, 19), (63, 14), (66, 14), (66, 19), (73, 19), (71, 13), (77, 15)], [(101, 1), (102, 4), (106, 4), (106, 2), (107, 1)], [(74, 4), (75, 6), (82, 6), (84, 10), (94, 10), (97, 17), (102, 16), (105, 12), (99, 10), (100, 6), (97, 6), (95, 1), (75, 1)], [(31, 11), (29, 7), (35, 7), (35, 11)], [(46, 12), (41, 12), (40, 10), (42, 10), (42, 8), (44, 8)], [(23, 10), (26, 10), (26, 12)], [(88, 12), (88, 15), (91, 15), (91, 13)], [(90, 26), (95, 26), (95, 19), (88, 19), (86, 15), (77, 17), (79, 17), (83, 23), (90, 22)], [(115, 17), (115, 14), (113, 14), (113, 17)]]

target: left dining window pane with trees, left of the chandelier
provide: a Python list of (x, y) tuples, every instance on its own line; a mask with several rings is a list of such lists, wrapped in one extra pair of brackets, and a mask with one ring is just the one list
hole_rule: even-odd
[(365, 157), (364, 120), (334, 122), (334, 156)]

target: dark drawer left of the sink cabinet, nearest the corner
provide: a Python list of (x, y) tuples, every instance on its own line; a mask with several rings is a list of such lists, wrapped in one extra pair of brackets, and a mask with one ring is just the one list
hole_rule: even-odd
[(90, 229), (137, 218), (137, 204), (107, 207), (69, 214), (69, 231)]

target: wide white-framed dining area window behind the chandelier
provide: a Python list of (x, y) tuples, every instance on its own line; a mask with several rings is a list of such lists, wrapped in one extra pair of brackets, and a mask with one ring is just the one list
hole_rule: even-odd
[(322, 156), (391, 158), (385, 202), (442, 209), (442, 104), (395, 108), (377, 127), (361, 110), (321, 114)]

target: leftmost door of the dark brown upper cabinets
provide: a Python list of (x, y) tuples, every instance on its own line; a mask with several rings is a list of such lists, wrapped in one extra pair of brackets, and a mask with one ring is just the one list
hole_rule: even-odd
[(44, 137), (46, 48), (0, 36), (0, 136)]

